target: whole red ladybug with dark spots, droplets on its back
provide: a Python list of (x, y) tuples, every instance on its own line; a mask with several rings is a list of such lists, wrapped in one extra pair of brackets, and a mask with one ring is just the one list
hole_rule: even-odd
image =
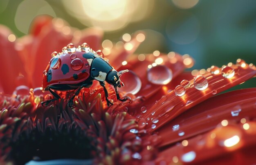
[(90, 88), (94, 80), (99, 81), (105, 92), (107, 105), (113, 105), (108, 100), (108, 91), (105, 81), (114, 86), (117, 99), (121, 99), (117, 87), (121, 88), (124, 83), (120, 80), (123, 73), (128, 70), (117, 72), (106, 60), (103, 59), (101, 51), (92, 51), (88, 44), (81, 46), (68, 44), (62, 49), (61, 53), (53, 52), (52, 59), (43, 72), (43, 89), (55, 97), (41, 102), (47, 106), (50, 102), (61, 99), (53, 90), (76, 90), (72, 98), (68, 101), (68, 106), (72, 107), (73, 99), (79, 94), (82, 88)]

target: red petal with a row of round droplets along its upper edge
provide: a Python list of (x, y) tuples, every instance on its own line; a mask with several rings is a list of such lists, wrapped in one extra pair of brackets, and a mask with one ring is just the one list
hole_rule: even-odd
[[(256, 75), (256, 70), (250, 68), (248, 65), (244, 68), (239, 65), (233, 65), (231, 67), (234, 69), (235, 73), (233, 77), (225, 78), (222, 76), (222, 73), (215, 75), (207, 72), (203, 75), (208, 81), (208, 87), (206, 89), (196, 89), (193, 83), (194, 80), (192, 79), (190, 80), (190, 87), (186, 88), (186, 93), (183, 96), (176, 96), (175, 91), (171, 91), (166, 97), (163, 97), (155, 103), (146, 113), (142, 114), (142, 117), (144, 119), (157, 118), (159, 122), (154, 124), (154, 128), (155, 130), (159, 129), (162, 125), (173, 120), (189, 108), (212, 97), (216, 93), (236, 86)], [(167, 118), (164, 117), (166, 115), (168, 115)], [(148, 124), (147, 126), (149, 127), (151, 125), (152, 124)]]

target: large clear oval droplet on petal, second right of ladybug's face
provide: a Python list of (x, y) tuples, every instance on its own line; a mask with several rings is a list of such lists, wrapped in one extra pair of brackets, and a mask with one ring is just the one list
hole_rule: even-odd
[(148, 81), (153, 84), (168, 84), (173, 78), (171, 69), (164, 65), (157, 65), (148, 70)]

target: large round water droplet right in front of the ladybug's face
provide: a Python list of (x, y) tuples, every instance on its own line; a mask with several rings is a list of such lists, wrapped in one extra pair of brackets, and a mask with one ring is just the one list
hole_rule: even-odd
[(141, 89), (141, 80), (132, 70), (124, 73), (120, 79), (124, 83), (124, 86), (119, 88), (119, 91), (125, 94), (131, 93), (135, 95)]

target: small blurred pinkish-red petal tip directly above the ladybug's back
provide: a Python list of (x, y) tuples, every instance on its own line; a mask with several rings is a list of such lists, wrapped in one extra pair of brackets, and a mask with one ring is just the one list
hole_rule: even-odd
[(87, 28), (83, 31), (75, 31), (74, 45), (78, 46), (86, 42), (92, 50), (97, 51), (101, 47), (100, 44), (103, 34), (103, 30), (96, 27)]

